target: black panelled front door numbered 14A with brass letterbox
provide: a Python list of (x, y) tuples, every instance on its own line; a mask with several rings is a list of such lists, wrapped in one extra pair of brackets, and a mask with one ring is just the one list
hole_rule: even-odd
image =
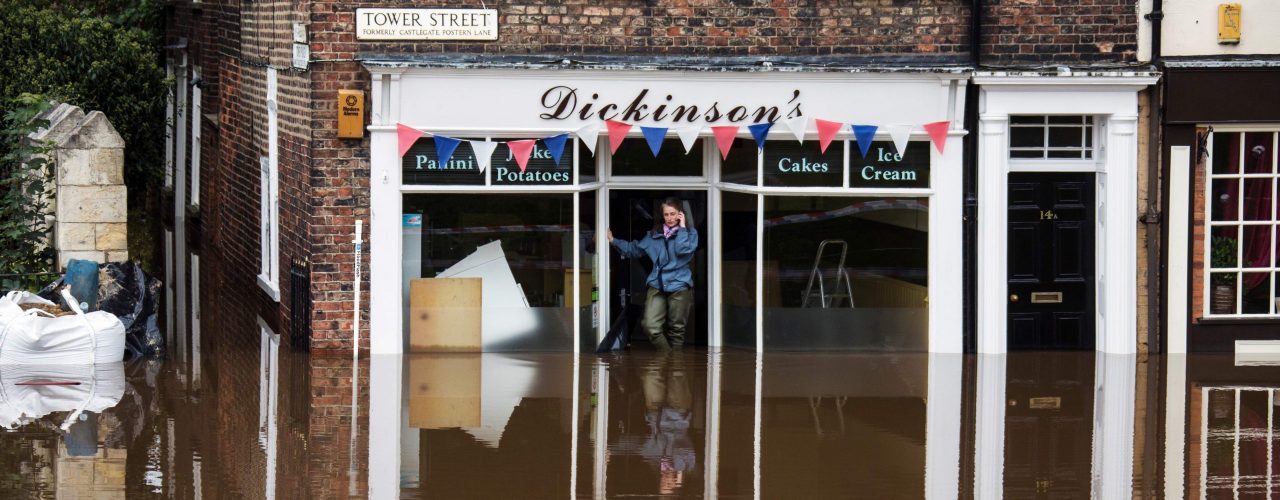
[(1094, 174), (1009, 174), (1009, 349), (1093, 349)]

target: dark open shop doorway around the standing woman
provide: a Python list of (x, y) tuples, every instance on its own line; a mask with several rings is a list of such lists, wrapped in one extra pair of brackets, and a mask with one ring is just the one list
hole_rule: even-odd
[[(609, 189), (608, 226), (614, 238), (636, 240), (653, 230), (654, 220), (662, 220), (662, 201), (675, 197), (685, 203), (686, 224), (698, 229), (698, 252), (690, 263), (694, 275), (694, 307), (689, 313), (685, 345), (708, 345), (709, 316), (707, 309), (708, 249), (710, 226), (707, 221), (705, 189)], [(648, 258), (622, 258), (609, 251), (609, 321), (603, 326), (625, 327), (634, 347), (649, 347), (640, 320), (648, 292), (645, 279), (653, 270)]]

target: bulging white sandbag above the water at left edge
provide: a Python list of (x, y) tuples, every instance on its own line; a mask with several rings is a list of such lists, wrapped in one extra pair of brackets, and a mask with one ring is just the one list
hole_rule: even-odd
[(74, 316), (23, 311), (23, 303), (52, 304), (26, 292), (0, 298), (0, 364), (93, 364), (124, 358), (124, 325), (115, 315), (83, 313), (74, 298), (68, 301)]

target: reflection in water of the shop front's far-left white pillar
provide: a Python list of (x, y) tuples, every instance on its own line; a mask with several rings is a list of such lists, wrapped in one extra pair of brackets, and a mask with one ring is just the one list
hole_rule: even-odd
[[(399, 288), (396, 288), (399, 290)], [(398, 316), (397, 316), (398, 317)], [(374, 353), (369, 359), (369, 497), (399, 499), (401, 404), (404, 358)], [(378, 387), (378, 390), (374, 390)]]

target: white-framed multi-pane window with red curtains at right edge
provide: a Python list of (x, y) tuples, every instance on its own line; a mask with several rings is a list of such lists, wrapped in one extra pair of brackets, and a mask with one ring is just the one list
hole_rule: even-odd
[(1276, 136), (1212, 134), (1204, 242), (1210, 316), (1277, 313)]

